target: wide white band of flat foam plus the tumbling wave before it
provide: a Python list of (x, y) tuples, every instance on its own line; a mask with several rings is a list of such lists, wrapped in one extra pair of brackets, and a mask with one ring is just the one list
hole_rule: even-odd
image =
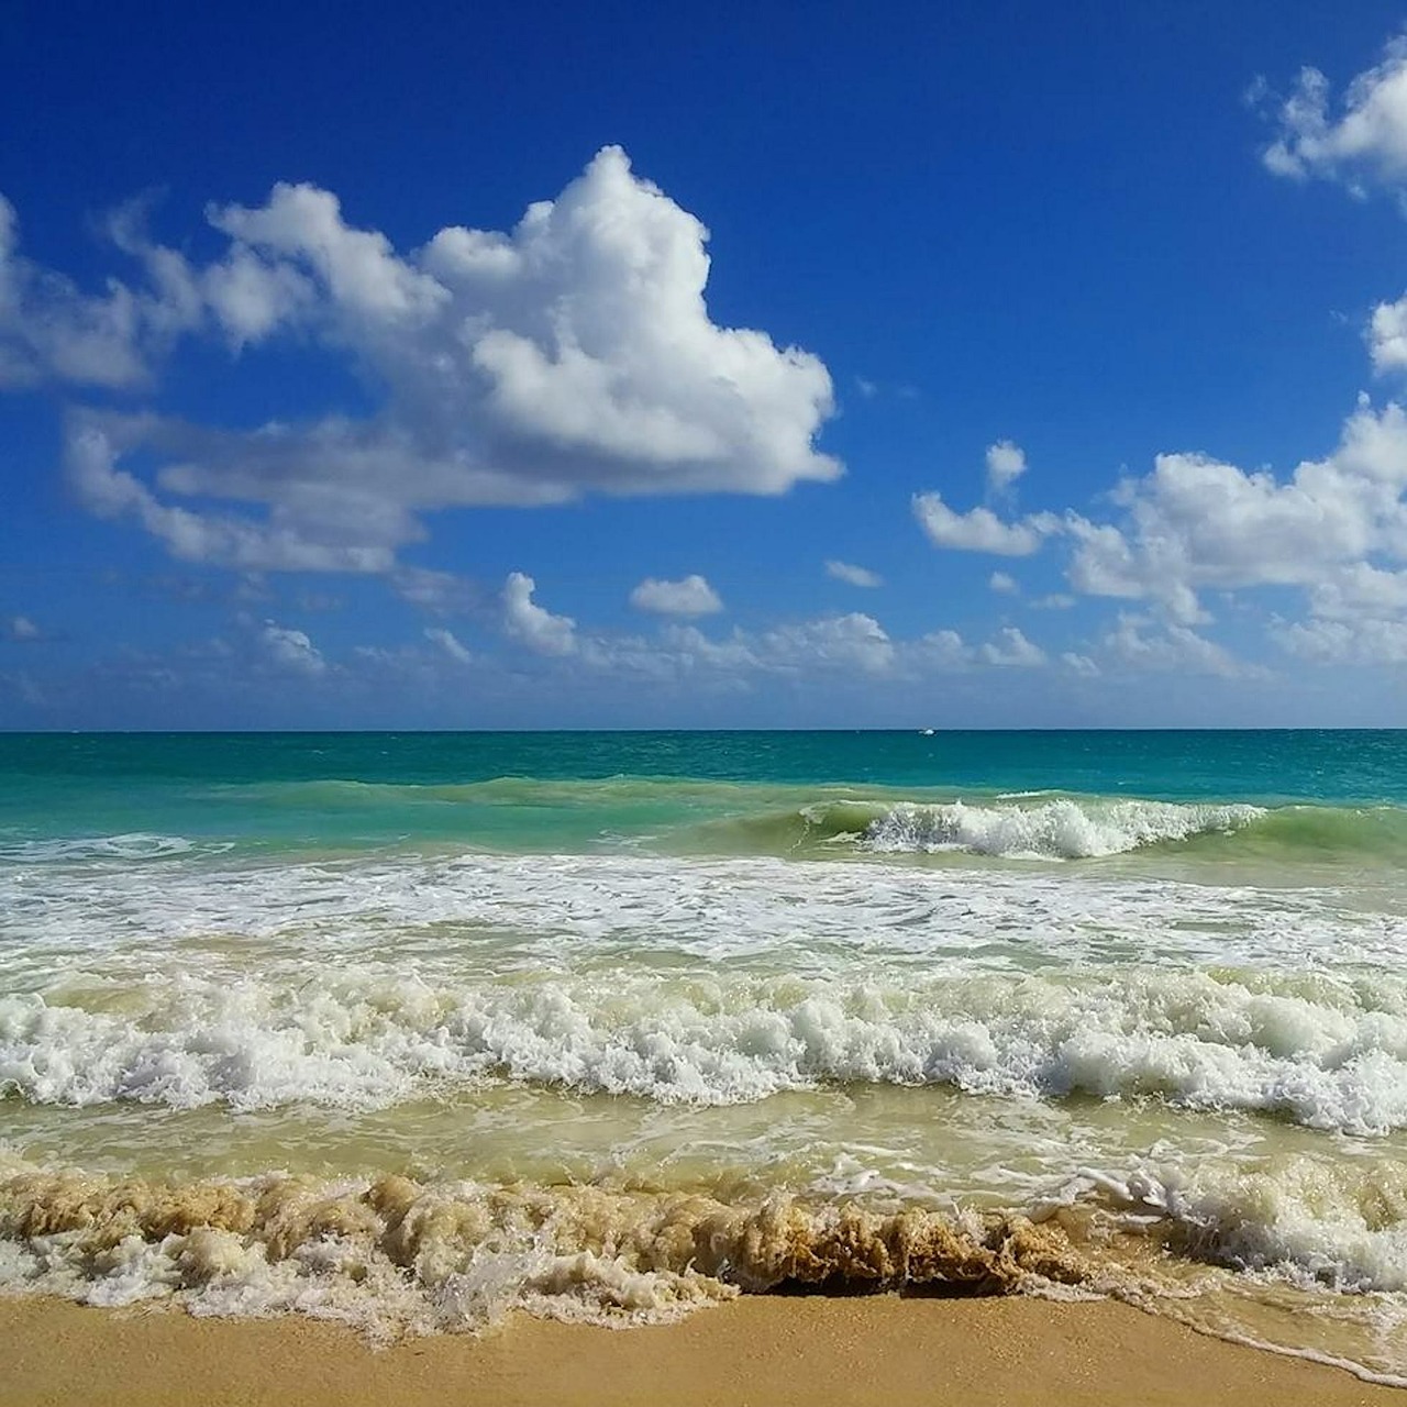
[[(377, 1107), (512, 1079), (1158, 1095), (1407, 1126), (1401, 922), (1332, 891), (649, 857), (0, 868), (0, 1089)], [(1217, 979), (1199, 968), (1258, 975)]]

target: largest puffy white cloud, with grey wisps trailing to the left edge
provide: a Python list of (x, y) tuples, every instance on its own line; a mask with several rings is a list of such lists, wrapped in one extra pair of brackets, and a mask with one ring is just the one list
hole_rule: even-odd
[[(151, 243), (135, 221), (115, 222), (151, 288), (114, 284), (93, 305), (15, 262), (3, 214), (0, 380), (129, 386), (159, 345), (203, 329), (246, 355), (295, 331), (367, 381), (378, 409), (364, 419), (236, 432), (76, 416), (80, 501), (135, 519), (186, 560), (388, 571), (425, 535), (422, 515), (443, 508), (781, 494), (841, 473), (815, 447), (833, 409), (826, 367), (765, 332), (711, 321), (708, 231), (637, 179), (619, 148), (511, 232), (450, 227), (409, 253), (349, 225), (312, 186), (212, 208), (227, 248), (204, 267)], [(62, 349), (37, 350), (52, 328)], [(93, 433), (106, 440), (97, 456)], [(173, 495), (229, 507), (177, 507)]]

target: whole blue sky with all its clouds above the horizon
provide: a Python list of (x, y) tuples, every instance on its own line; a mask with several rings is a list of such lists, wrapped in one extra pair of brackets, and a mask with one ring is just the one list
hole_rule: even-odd
[(0, 727), (1407, 726), (1407, 7), (8, 0)]

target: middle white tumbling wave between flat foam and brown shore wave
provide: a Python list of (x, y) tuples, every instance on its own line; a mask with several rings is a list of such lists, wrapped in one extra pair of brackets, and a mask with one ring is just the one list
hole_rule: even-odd
[(84, 1000), (0, 998), (0, 1093), (371, 1109), (484, 1079), (695, 1104), (948, 1085), (1407, 1127), (1407, 992), (1392, 978), (1103, 969), (878, 985), (612, 969), (438, 986), (366, 967), (300, 985), (145, 981)]

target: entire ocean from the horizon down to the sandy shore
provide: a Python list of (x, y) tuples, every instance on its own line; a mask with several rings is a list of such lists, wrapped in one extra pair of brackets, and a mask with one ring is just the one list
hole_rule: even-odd
[(1407, 1382), (1404, 958), (1407, 733), (0, 734), (0, 1289)]

